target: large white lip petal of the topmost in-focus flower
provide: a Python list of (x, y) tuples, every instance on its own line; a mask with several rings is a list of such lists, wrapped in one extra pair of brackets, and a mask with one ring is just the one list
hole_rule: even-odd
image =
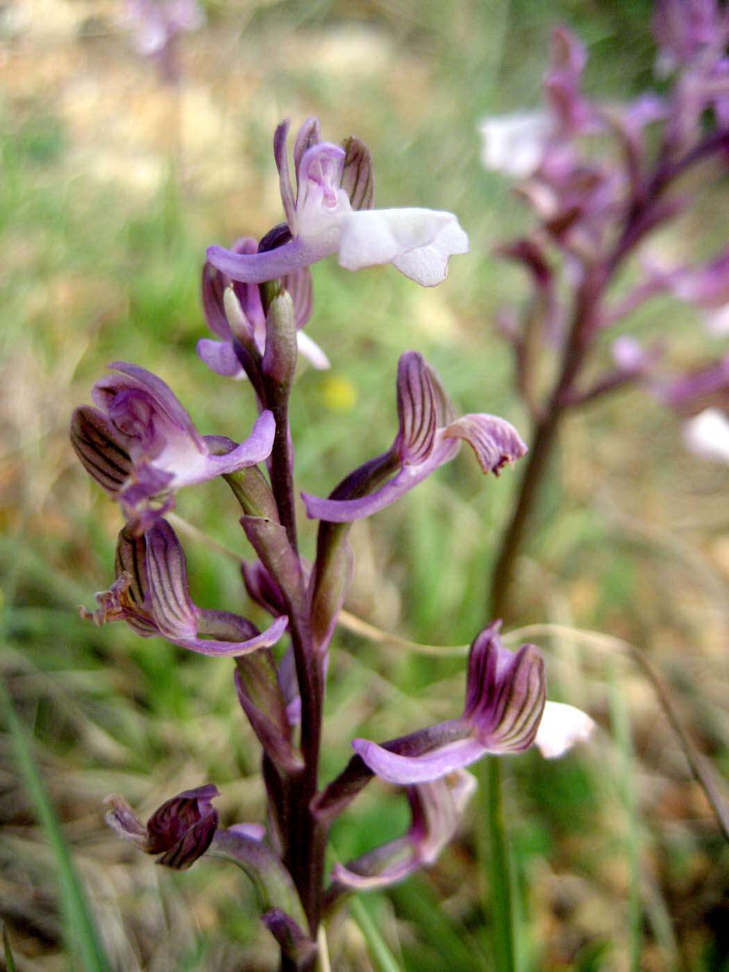
[(469, 237), (452, 213), (432, 209), (368, 209), (343, 217), (339, 262), (348, 270), (394, 263), (424, 287), (445, 279), (448, 258), (469, 252)]

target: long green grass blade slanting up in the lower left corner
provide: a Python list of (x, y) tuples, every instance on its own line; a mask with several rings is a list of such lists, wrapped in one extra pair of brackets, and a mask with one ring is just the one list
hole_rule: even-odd
[(55, 816), (46, 786), (33, 759), (25, 729), (17, 717), (13, 702), (2, 680), (0, 680), (0, 712), (8, 726), (20, 774), (55, 856), (59, 903), (69, 951), (81, 955), (87, 972), (108, 972), (111, 965), (104, 954), (84, 887), (74, 866), (58, 818)]

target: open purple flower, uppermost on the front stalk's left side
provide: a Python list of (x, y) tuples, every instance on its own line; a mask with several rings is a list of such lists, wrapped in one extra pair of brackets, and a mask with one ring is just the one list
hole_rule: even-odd
[[(172, 505), (169, 494), (216, 476), (256, 466), (270, 455), (273, 414), (264, 411), (244, 442), (200, 435), (165, 383), (136, 364), (97, 382), (71, 419), (71, 444), (88, 474), (121, 503), (125, 518), (143, 533)], [(167, 496), (161, 509), (151, 501)]]

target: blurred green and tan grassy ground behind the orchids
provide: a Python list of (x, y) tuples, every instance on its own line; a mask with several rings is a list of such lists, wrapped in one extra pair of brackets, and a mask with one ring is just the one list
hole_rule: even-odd
[[(649, 86), (655, 56), (647, 0), (219, 0), (205, 9), (206, 25), (182, 40), (175, 88), (133, 51), (117, 0), (0, 6), (0, 668), (14, 705), (0, 734), (0, 910), (18, 969), (82, 967), (73, 936), (64, 945), (73, 916), (53, 819), (114, 969), (275, 963), (238, 873), (204, 862), (160, 873), (103, 824), (110, 792), (144, 813), (215, 781), (226, 822), (260, 820), (264, 798), (231, 663), (77, 617), (112, 579), (120, 520), (72, 453), (72, 408), (89, 400), (107, 362), (127, 360), (164, 378), (203, 433), (247, 434), (249, 390), (222, 384), (194, 354), (205, 334), (199, 272), (207, 244), (280, 221), (273, 129), (316, 114), (325, 138), (356, 133), (369, 146), (379, 206), (456, 212), (471, 253), (452, 260), (434, 291), (392, 268), (314, 268), (308, 330), (332, 367), (301, 367), (297, 381), (299, 486), (327, 493), (389, 445), (397, 358), (410, 348), (464, 411), (525, 429), (494, 318), (526, 299), (526, 282), (491, 251), (529, 217), (506, 180), (481, 169), (477, 122), (538, 105), (558, 22), (588, 45), (588, 91), (604, 98)], [(719, 237), (725, 194), (707, 196), (680, 236), (662, 240), (672, 257)], [(668, 300), (647, 305), (635, 330), (670, 335), (677, 364), (716, 351), (697, 315)], [(469, 459), (355, 528), (350, 611), (415, 642), (470, 641), (518, 470), (486, 482)], [(639, 646), (696, 745), (729, 770), (727, 478), (689, 458), (676, 419), (637, 391), (573, 418), (564, 436), (520, 567), (519, 622), (553, 626), (531, 636), (547, 657), (551, 697), (591, 712), (600, 731), (561, 761), (530, 752), (505, 767), (523, 970), (729, 968), (729, 861), (709, 805), (620, 642), (584, 635)], [(222, 482), (183, 493), (178, 513), (251, 555)], [(311, 524), (302, 530), (310, 552)], [(250, 612), (234, 558), (199, 540), (186, 546), (195, 601)], [(463, 670), (463, 652), (434, 657), (342, 630), (325, 777), (356, 735), (387, 738), (455, 714)], [(45, 826), (32, 766), (52, 800)], [(397, 793), (372, 785), (336, 826), (337, 855), (401, 832), (406, 816)], [(330, 929), (334, 968), (492, 968), (484, 830), (476, 800), (431, 871), (363, 896)]]

